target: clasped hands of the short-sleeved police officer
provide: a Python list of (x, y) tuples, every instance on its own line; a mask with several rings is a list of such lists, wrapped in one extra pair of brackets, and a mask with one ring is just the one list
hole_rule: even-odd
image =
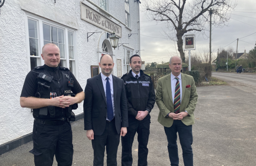
[(65, 107), (69, 107), (69, 105), (73, 105), (76, 103), (76, 98), (75, 97), (71, 97), (71, 96), (59, 96), (59, 97), (54, 97), (53, 99), (50, 99), (54, 106), (56, 107), (61, 107), (61, 108), (65, 108)]

